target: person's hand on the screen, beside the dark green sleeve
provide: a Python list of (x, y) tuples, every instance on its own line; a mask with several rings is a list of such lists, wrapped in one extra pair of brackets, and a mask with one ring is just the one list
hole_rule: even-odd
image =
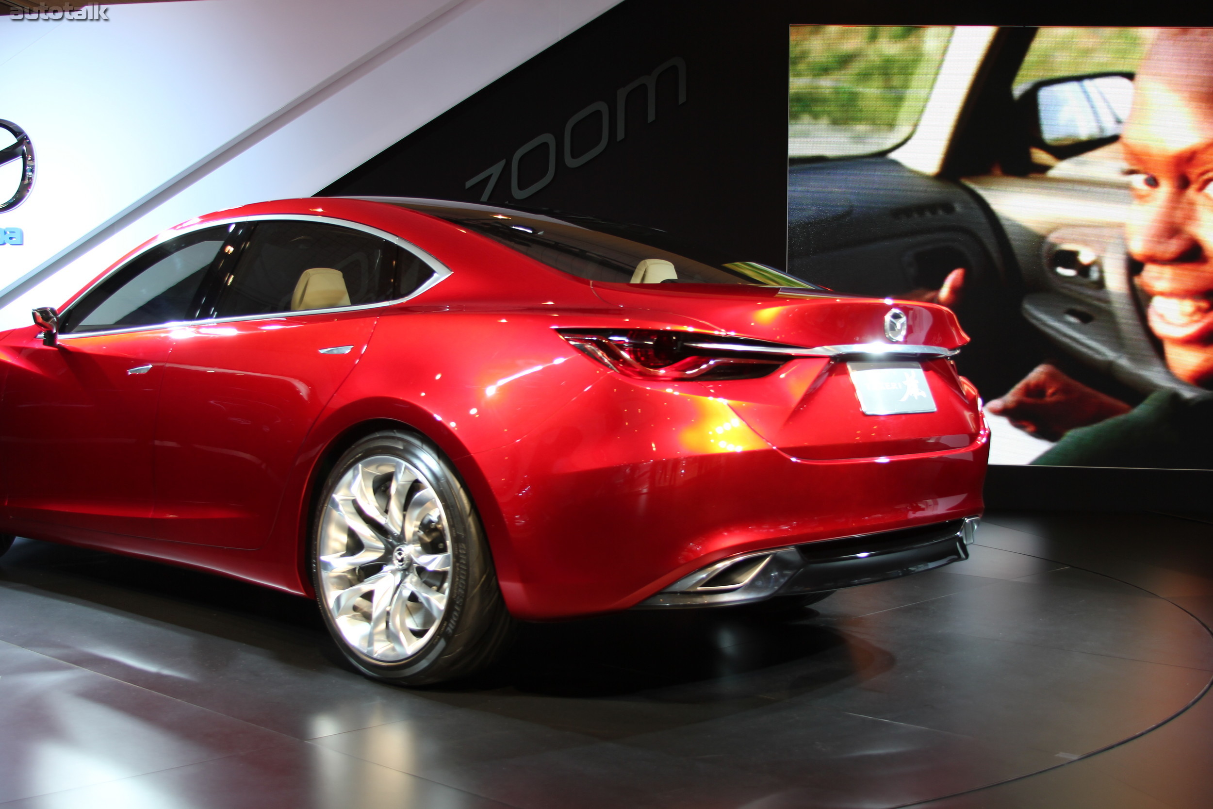
[(1075, 427), (1086, 427), (1132, 410), (1120, 399), (1075, 382), (1052, 365), (1037, 365), (1006, 395), (986, 405), (1025, 433), (1055, 441)]

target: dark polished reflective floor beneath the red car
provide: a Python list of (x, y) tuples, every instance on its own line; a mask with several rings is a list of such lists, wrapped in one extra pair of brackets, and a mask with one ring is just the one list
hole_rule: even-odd
[(19, 541), (4, 809), (1213, 805), (1213, 524), (990, 514), (799, 620), (528, 626), (475, 683), (347, 671), (304, 600)]

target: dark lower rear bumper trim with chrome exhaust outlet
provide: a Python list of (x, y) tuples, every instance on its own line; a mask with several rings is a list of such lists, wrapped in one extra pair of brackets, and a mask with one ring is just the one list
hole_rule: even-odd
[(744, 553), (706, 565), (633, 609), (728, 606), (909, 576), (968, 559), (976, 517)]

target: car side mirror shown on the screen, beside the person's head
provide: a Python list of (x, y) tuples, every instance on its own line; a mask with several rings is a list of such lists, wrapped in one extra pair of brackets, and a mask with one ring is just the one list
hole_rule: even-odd
[(1132, 102), (1132, 73), (1042, 79), (1015, 101), (1031, 144), (1058, 160), (1115, 143)]

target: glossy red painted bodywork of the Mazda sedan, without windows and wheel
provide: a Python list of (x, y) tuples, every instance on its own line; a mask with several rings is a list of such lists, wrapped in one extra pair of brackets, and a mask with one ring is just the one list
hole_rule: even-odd
[[(250, 205), (148, 245), (206, 222), (309, 213), (397, 234), (451, 274), (414, 298), (336, 314), (57, 347), (34, 326), (0, 336), (0, 531), (309, 594), (307, 535), (326, 465), (358, 435), (406, 426), (462, 475), (509, 610), (543, 620), (626, 609), (735, 553), (981, 511), (987, 433), (950, 360), (923, 363), (935, 412), (873, 417), (845, 365), (825, 358), (752, 380), (647, 381), (554, 331), (865, 343), (883, 340), (889, 301), (591, 283), (450, 222), (353, 199)], [(947, 309), (896, 304), (907, 343), (967, 341)], [(82, 351), (86, 341), (97, 347)], [(319, 353), (337, 346), (353, 348)], [(74, 368), (85, 355), (87, 369)], [(125, 375), (136, 359), (152, 369)], [(68, 490), (28, 462), (46, 451), (73, 458)]]

